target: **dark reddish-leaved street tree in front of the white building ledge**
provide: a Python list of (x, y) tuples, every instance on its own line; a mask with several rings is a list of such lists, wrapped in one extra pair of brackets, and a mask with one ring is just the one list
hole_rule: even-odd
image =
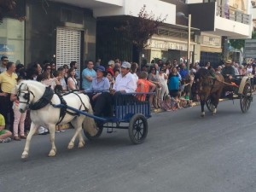
[(153, 12), (148, 14), (144, 4), (138, 17), (129, 16), (125, 20), (125, 25), (116, 30), (123, 32), (125, 37), (137, 48), (137, 51), (141, 52), (148, 46), (148, 39), (158, 33), (158, 28), (163, 25), (166, 17), (164, 19), (161, 16), (155, 18)]

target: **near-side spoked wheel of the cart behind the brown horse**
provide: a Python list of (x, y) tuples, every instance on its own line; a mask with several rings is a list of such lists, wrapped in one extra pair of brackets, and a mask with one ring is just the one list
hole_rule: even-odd
[(242, 94), (240, 96), (240, 107), (241, 107), (241, 112), (246, 113), (247, 110), (251, 106), (251, 102), (253, 100), (252, 97), (252, 86), (249, 82), (247, 82), (244, 85), (244, 88), (242, 90)]

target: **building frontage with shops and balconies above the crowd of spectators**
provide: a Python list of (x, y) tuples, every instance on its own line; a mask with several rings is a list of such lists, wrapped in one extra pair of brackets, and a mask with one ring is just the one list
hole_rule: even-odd
[[(70, 61), (101, 58), (104, 62), (120, 58), (150, 62), (156, 58), (186, 61), (188, 20), (177, 13), (191, 15), (190, 61), (226, 59), (226, 42), (251, 38), (253, 29), (250, 0), (24, 0), (21, 12), (26, 20), (5, 18), (0, 25), (0, 55), (16, 63)], [(137, 17), (146, 5), (148, 13), (165, 17), (165, 25), (148, 40), (140, 55), (131, 42), (115, 29), (127, 17)]]

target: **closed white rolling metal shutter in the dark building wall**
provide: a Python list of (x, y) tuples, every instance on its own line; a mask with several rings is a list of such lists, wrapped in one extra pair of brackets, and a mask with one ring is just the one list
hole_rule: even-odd
[(80, 74), (81, 32), (78, 30), (57, 28), (56, 67), (62, 67), (71, 61), (77, 61)]

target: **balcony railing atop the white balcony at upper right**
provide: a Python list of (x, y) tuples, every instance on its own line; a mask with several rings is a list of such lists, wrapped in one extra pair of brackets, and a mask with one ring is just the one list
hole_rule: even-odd
[(217, 7), (217, 16), (226, 18), (228, 20), (235, 20), (240, 23), (250, 24), (250, 15), (242, 13), (241, 10), (231, 9), (230, 7)]

